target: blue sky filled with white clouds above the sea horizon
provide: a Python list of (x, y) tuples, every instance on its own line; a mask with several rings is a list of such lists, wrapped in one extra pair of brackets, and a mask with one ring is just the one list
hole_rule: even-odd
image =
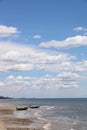
[(87, 97), (87, 0), (0, 0), (0, 96)]

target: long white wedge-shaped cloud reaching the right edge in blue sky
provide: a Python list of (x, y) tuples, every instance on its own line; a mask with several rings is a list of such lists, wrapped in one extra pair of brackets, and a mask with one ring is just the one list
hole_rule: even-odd
[(41, 42), (39, 47), (44, 48), (73, 48), (78, 46), (87, 46), (87, 36), (69, 37), (63, 41), (51, 40), (48, 42)]

